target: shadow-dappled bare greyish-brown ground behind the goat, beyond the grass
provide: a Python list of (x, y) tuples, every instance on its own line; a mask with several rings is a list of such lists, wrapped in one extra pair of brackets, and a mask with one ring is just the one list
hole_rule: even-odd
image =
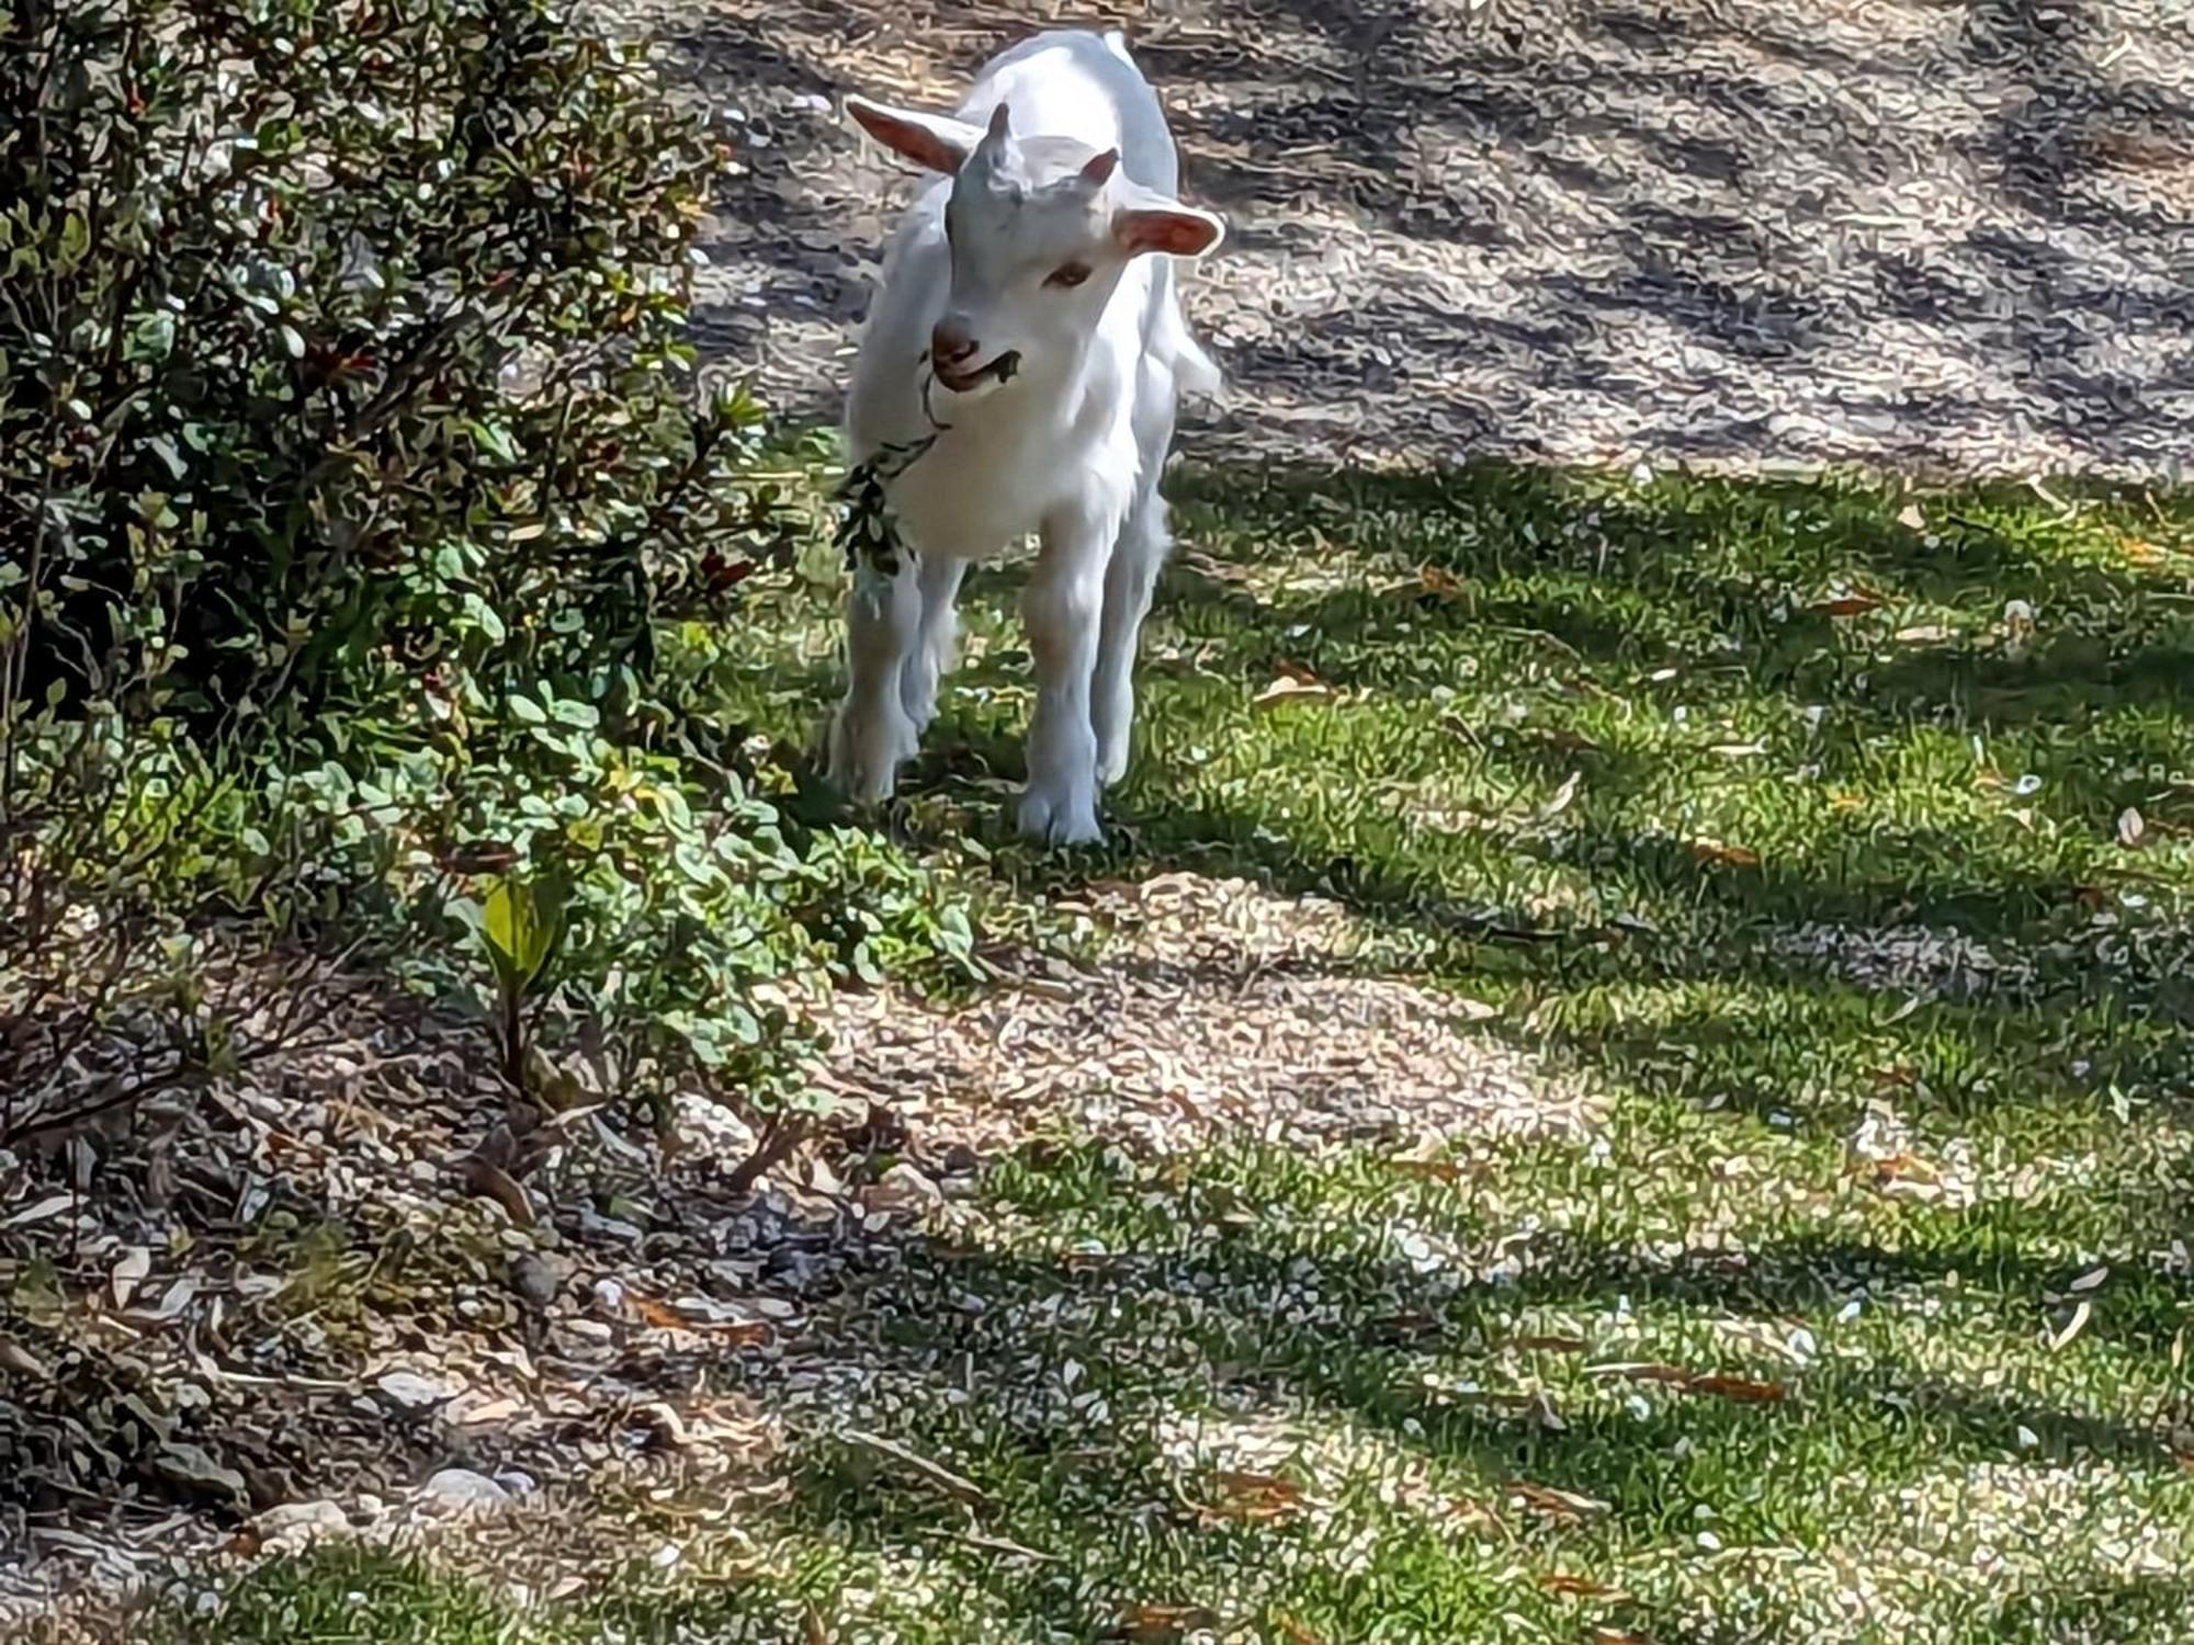
[(2174, 474), (2194, 454), (2183, 0), (636, 0), (744, 116), (713, 353), (836, 415), (908, 180), (845, 90), (950, 103), (1121, 22), (1229, 399), (1202, 456)]

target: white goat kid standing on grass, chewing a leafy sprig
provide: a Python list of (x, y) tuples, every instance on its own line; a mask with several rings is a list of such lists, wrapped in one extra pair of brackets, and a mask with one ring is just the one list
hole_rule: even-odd
[(937, 708), (968, 561), (1036, 533), (1036, 660), (1020, 829), (1090, 842), (1128, 765), (1134, 649), (1172, 542), (1158, 476), (1185, 390), (1218, 371), (1180, 318), (1174, 257), (1218, 246), (1183, 206), (1165, 114), (1126, 42), (1055, 31), (994, 57), (954, 116), (849, 97), (878, 143), (943, 173), (884, 252), (847, 399), (853, 463), (930, 434), (886, 487), (891, 575), (856, 575), (832, 781), (889, 798)]

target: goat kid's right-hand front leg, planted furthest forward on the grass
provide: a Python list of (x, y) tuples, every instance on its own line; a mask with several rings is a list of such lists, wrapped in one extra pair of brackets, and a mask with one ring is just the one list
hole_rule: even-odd
[(1044, 522), (1042, 553), (1022, 599), (1036, 658), (1036, 717), (1029, 722), (1029, 785), (1020, 831), (1051, 844), (1093, 844), (1097, 829), (1097, 733), (1090, 676), (1104, 623), (1104, 575), (1117, 518), (1082, 511)]

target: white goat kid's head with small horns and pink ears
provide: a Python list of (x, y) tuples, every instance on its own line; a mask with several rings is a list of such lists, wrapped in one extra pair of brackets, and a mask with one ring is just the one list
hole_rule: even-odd
[(1005, 103), (987, 127), (862, 97), (847, 112), (893, 154), (952, 178), (952, 290), (930, 333), (930, 371), (954, 395), (1079, 355), (1128, 259), (1202, 257), (1224, 235), (1211, 213), (1126, 178), (1117, 149), (1016, 138)]

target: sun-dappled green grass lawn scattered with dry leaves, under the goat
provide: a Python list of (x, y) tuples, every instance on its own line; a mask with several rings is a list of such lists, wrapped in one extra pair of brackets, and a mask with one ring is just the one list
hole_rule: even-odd
[[(2076, 504), (1200, 476), (1119, 842), (1068, 858), (1009, 838), (1018, 572), (979, 575), (913, 847), (1000, 912), (1183, 866), (1321, 890), (1604, 1130), (1450, 1138), (1452, 1180), (1000, 1162), (974, 1250), (838, 1303), (871, 1371), (796, 1417), (766, 1555), (522, 1616), (384, 1564), (412, 1597), (355, 1636), (2194, 1636), (2194, 502)], [(834, 590), (757, 599), (726, 693), (796, 741)], [(1257, 708), (1283, 665), (1336, 695)], [(1889, 932), (1992, 965), (1898, 974)], [(1880, 1103), (1948, 1193), (1854, 1173)], [(353, 1636), (294, 1616), (355, 1568), (255, 1581), (224, 1638)]]

